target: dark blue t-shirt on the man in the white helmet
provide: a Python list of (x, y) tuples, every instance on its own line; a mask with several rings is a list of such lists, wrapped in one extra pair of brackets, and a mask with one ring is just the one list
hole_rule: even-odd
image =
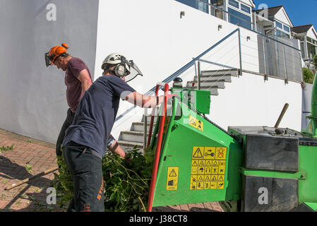
[(63, 146), (74, 141), (96, 150), (103, 157), (120, 97), (125, 100), (128, 94), (135, 91), (119, 77), (97, 78), (81, 98), (73, 124), (65, 132)]

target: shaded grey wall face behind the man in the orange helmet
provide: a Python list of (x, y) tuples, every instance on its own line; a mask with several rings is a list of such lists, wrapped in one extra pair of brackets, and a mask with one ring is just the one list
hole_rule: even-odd
[(65, 73), (47, 68), (44, 53), (66, 42), (93, 76), (97, 8), (98, 0), (0, 0), (0, 129), (56, 143)]

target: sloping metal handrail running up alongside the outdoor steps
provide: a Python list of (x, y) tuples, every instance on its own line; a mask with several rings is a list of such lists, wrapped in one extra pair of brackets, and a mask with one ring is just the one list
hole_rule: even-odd
[[(225, 40), (227, 40), (227, 38), (229, 38), (230, 36), (234, 35), (235, 32), (240, 32), (240, 28), (237, 28), (236, 30), (234, 30), (233, 32), (229, 33), (229, 35), (227, 35), (226, 37), (222, 38), (222, 40), (220, 40), (219, 42), (217, 42), (216, 44), (214, 44), (212, 47), (208, 48), (207, 50), (205, 50), (205, 52), (201, 53), (198, 55), (198, 57), (195, 57), (194, 59), (192, 59), (191, 61), (189, 61), (189, 63), (187, 63), (185, 66), (182, 66), (181, 69), (177, 70), (176, 72), (172, 73), (171, 76), (165, 78), (165, 80), (162, 81), (162, 83), (169, 83), (171, 82), (174, 78), (177, 78), (177, 76), (179, 76), (181, 73), (183, 73), (184, 71), (186, 71), (187, 69), (189, 69), (191, 66), (193, 66), (193, 64), (195, 64), (196, 61), (198, 61), (201, 57), (203, 57), (205, 54), (207, 54), (208, 52), (210, 52), (212, 49), (214, 49), (215, 47), (217, 47), (219, 44), (221, 44), (222, 42), (224, 42)], [(240, 44), (241, 45), (241, 44)], [(240, 52), (241, 55), (241, 52)], [(241, 63), (241, 62), (240, 62)], [(241, 70), (242, 71), (242, 70)], [(150, 95), (154, 90), (155, 90), (156, 86), (151, 88), (150, 90), (148, 90), (148, 92), (145, 93), (145, 95)], [(116, 119), (114, 120), (114, 122), (118, 121), (119, 119), (121, 119), (122, 117), (124, 117), (124, 115), (128, 114), (128, 112), (131, 112), (131, 110), (133, 110), (136, 107), (136, 105), (134, 105), (133, 107), (127, 109), (124, 113), (120, 114), (118, 117), (116, 117)]]

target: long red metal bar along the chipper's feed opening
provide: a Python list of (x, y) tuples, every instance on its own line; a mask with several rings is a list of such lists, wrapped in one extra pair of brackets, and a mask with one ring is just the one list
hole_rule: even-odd
[[(158, 91), (158, 88), (157, 88)], [(162, 145), (162, 137), (163, 137), (163, 130), (164, 130), (164, 123), (165, 123), (165, 116), (166, 116), (166, 109), (167, 109), (167, 95), (169, 92), (169, 84), (165, 83), (165, 88), (164, 88), (164, 107), (163, 107), (163, 112), (162, 116), (160, 119), (160, 127), (157, 132), (157, 145), (156, 145), (156, 150), (155, 150), (155, 157), (154, 157), (154, 162), (153, 162), (153, 169), (152, 169), (152, 179), (151, 179), (151, 185), (150, 185), (150, 193), (149, 193), (149, 198), (148, 198), (148, 209), (147, 212), (152, 212), (152, 203), (153, 203), (153, 196), (154, 196), (154, 189), (155, 189), (155, 182), (156, 182), (156, 177), (157, 177), (157, 167), (158, 167), (158, 162), (160, 160), (160, 150), (161, 150), (161, 145)], [(153, 115), (151, 117), (151, 123), (153, 119)]]

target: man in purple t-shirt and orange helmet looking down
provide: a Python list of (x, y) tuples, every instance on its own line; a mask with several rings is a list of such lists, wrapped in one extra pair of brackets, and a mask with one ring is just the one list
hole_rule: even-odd
[[(46, 65), (56, 65), (57, 69), (66, 71), (65, 85), (66, 99), (69, 106), (67, 117), (64, 121), (59, 137), (56, 141), (56, 155), (61, 156), (61, 144), (65, 136), (65, 131), (73, 122), (73, 117), (78, 107), (78, 104), (85, 94), (85, 91), (90, 88), (92, 78), (88, 66), (79, 58), (72, 57), (68, 54), (68, 44), (63, 43), (61, 46), (52, 47), (50, 51), (45, 54)], [(124, 150), (116, 143), (115, 139), (110, 134), (107, 148), (114, 151), (118, 149), (121, 153)], [(123, 156), (124, 157), (124, 156)]]

